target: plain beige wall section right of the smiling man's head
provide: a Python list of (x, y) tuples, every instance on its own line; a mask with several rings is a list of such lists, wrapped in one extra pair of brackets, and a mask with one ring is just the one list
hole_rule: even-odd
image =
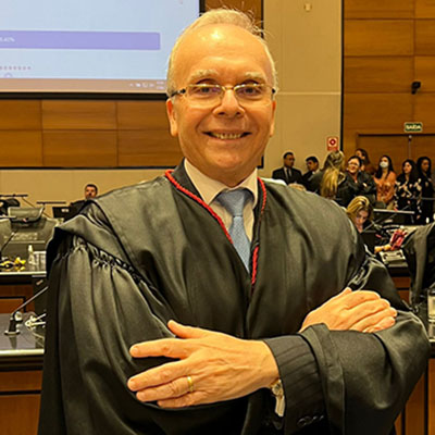
[(294, 151), (295, 166), (327, 153), (326, 138), (339, 136), (341, 99), (341, 1), (264, 0), (266, 40), (278, 71), (276, 133), (263, 176)]

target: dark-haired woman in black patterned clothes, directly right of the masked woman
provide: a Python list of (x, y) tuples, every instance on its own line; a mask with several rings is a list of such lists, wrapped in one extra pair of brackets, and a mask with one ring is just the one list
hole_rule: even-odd
[(421, 220), (422, 214), (422, 181), (419, 177), (415, 162), (407, 159), (401, 164), (401, 173), (396, 179), (395, 208), (397, 210), (413, 211), (414, 215), (407, 215), (407, 224), (415, 224)]

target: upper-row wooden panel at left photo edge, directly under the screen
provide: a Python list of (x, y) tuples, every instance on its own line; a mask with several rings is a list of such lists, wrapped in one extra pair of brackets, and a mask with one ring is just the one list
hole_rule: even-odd
[(40, 101), (0, 100), (0, 129), (40, 129)]

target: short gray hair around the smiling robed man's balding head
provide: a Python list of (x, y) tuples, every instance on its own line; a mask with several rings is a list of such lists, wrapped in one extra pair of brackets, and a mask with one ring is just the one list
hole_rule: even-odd
[(212, 9), (206, 13), (203, 13), (199, 18), (197, 18), (192, 24), (190, 24), (183, 33), (179, 35), (176, 40), (170, 55), (169, 66), (167, 66), (167, 75), (166, 75), (166, 95), (170, 97), (174, 91), (176, 91), (175, 82), (174, 82), (174, 63), (175, 63), (175, 54), (179, 48), (181, 42), (184, 37), (188, 35), (190, 32), (196, 30), (197, 28), (208, 26), (210, 24), (232, 24), (238, 27), (241, 27), (248, 30), (251, 35), (253, 35), (263, 46), (265, 54), (271, 63), (272, 70), (272, 86), (277, 90), (277, 73), (275, 67), (275, 62), (272, 58), (272, 54), (269, 50), (269, 47), (263, 39), (263, 30), (258, 27), (253, 21), (251, 15), (248, 15), (244, 12), (232, 10), (232, 9)]

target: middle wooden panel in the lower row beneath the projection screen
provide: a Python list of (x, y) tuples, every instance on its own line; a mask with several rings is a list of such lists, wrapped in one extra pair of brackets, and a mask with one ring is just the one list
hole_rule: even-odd
[(55, 167), (116, 166), (116, 132), (44, 133), (44, 165)]

